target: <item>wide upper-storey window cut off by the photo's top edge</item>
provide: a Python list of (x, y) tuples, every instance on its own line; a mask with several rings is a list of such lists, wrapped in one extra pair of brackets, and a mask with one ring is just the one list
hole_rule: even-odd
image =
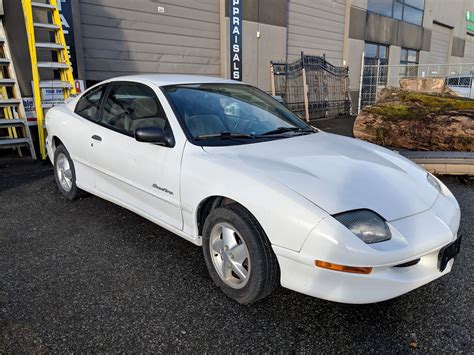
[(367, 10), (421, 26), (425, 0), (368, 0)]

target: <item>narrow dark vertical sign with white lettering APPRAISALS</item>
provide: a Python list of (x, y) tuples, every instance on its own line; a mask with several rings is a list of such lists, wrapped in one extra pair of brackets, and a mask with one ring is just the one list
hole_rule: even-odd
[(242, 1), (230, 2), (230, 78), (242, 81)]

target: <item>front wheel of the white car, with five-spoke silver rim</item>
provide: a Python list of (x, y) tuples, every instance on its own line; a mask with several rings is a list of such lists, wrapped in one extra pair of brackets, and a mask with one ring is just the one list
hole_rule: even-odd
[(214, 283), (239, 303), (256, 302), (279, 285), (270, 241), (255, 217), (237, 203), (216, 208), (206, 218), (203, 253)]

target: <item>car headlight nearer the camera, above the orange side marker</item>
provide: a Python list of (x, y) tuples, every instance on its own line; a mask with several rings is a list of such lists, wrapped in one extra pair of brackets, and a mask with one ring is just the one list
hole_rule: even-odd
[(333, 216), (366, 244), (380, 243), (392, 238), (385, 220), (375, 212), (356, 210)]

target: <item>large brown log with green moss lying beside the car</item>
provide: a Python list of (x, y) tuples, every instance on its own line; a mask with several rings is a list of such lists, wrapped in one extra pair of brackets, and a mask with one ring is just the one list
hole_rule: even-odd
[(393, 148), (474, 152), (474, 100), (384, 89), (357, 116), (354, 136)]

